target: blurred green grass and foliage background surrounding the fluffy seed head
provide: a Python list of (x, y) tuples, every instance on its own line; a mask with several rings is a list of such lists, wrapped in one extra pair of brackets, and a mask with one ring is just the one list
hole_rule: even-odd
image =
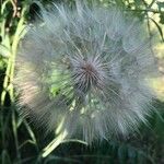
[(150, 82), (159, 98), (154, 101), (156, 113), (149, 118), (149, 125), (141, 125), (140, 134), (127, 140), (113, 139), (92, 147), (70, 141), (60, 144), (47, 157), (40, 156), (54, 134), (43, 138), (44, 130), (37, 130), (19, 116), (12, 81), (24, 27), (35, 22), (40, 4), (48, 7), (52, 2), (74, 7), (74, 0), (0, 0), (0, 164), (164, 164), (163, 0), (94, 0), (106, 8), (119, 5), (145, 21), (150, 35), (156, 32), (154, 49), (161, 77)]

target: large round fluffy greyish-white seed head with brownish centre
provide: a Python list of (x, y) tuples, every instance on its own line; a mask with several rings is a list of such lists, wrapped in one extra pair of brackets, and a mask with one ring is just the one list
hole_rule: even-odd
[(20, 44), (15, 83), (23, 115), (45, 131), (92, 143), (147, 122), (155, 62), (147, 27), (110, 8), (55, 5)]

